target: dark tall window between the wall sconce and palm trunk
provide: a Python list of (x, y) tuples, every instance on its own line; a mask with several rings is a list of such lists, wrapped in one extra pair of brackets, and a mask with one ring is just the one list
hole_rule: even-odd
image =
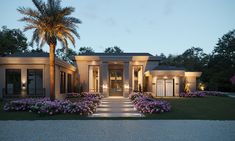
[(28, 69), (27, 71), (28, 94), (41, 95), (43, 94), (43, 75), (42, 69)]

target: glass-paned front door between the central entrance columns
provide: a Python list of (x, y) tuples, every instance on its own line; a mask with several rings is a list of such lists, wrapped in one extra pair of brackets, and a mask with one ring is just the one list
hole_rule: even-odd
[(123, 70), (109, 70), (109, 96), (123, 96)]

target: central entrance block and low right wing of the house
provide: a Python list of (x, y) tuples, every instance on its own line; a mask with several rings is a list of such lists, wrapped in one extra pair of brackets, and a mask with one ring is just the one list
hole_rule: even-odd
[(151, 92), (154, 96), (179, 96), (185, 83), (196, 90), (201, 72), (159, 66), (160, 57), (149, 53), (80, 55), (75, 57), (80, 85), (85, 91), (100, 92), (105, 97), (132, 92)]

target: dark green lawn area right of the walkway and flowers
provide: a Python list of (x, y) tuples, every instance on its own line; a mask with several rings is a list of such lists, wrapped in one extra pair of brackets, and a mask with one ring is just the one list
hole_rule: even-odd
[(235, 120), (235, 98), (207, 96), (204, 98), (165, 98), (172, 111), (147, 115), (154, 119)]

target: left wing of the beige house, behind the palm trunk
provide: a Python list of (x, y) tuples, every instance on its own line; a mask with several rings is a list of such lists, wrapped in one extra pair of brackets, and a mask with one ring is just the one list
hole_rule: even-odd
[[(76, 67), (55, 58), (55, 93), (64, 98), (75, 85)], [(50, 95), (48, 53), (16, 53), (0, 57), (0, 97)]]

